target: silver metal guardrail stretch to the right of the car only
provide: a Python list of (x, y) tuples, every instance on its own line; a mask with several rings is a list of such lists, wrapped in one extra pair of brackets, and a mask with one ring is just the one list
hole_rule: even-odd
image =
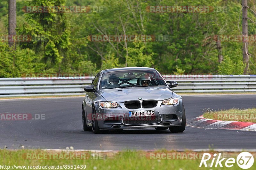
[(167, 75), (175, 92), (256, 92), (256, 75)]

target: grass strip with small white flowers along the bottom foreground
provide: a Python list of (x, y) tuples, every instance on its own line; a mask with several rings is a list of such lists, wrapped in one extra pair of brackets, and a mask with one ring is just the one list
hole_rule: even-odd
[[(74, 152), (74, 151), (66, 151), (66, 152), (58, 152), (59, 155), (63, 155), (65, 153), (86, 153), (87, 159), (28, 159), (33, 158), (28, 157), (28, 154), (37, 154), (36, 158), (39, 157), (39, 153), (45, 153), (49, 156), (50, 153), (57, 153), (53, 151), (43, 151), (43, 150), (0, 150), (0, 166), (6, 165), (12, 167), (15, 166), (23, 166), (20, 169), (26, 169), (24, 166), (55, 166), (54, 169), (62, 169), (57, 168), (57, 166), (65, 166), (65, 165), (76, 165), (76, 169), (84, 169), (84, 165), (86, 165), (86, 169), (99, 170), (99, 169), (177, 169), (177, 170), (185, 170), (185, 169), (199, 169), (199, 165), (201, 162), (201, 158), (204, 152), (193, 152), (193, 151), (167, 151), (167, 150), (159, 150), (154, 152), (146, 152), (146, 151), (120, 151), (120, 152), (103, 152), (104, 156), (99, 156), (98, 153), (92, 152)], [(170, 157), (157, 157), (156, 154), (159, 153), (161, 155), (169, 154)], [(213, 157), (213, 153), (219, 154), (219, 152), (207, 151), (207, 153), (211, 153)], [(222, 158), (235, 158), (240, 152), (222, 152)], [(149, 154), (153, 154), (154, 156), (150, 157)], [(190, 154), (190, 156), (189, 156)], [(192, 154), (192, 156), (191, 156)], [(251, 154), (255, 158), (255, 152), (251, 152)], [(96, 156), (95, 156), (96, 155)], [(97, 156), (98, 155), (98, 156)], [(151, 158), (151, 159), (150, 159)], [(153, 159), (152, 159), (153, 158)], [(158, 159), (154, 159), (158, 158)], [(159, 159), (160, 158), (160, 159)], [(166, 159), (169, 158), (169, 159)], [(170, 159), (171, 158), (171, 159)], [(207, 165), (210, 166), (213, 159), (207, 161)], [(223, 168), (221, 169), (238, 169), (238, 165), (234, 163), (232, 168), (225, 167), (225, 159), (222, 163)], [(214, 160), (216, 162), (216, 159)], [(214, 162), (214, 165), (215, 165)], [(77, 168), (77, 166), (82, 165), (83, 168)], [(18, 169), (17, 167), (15, 169)], [(27, 168), (28, 169), (28, 168)], [(35, 168), (36, 169), (36, 168)], [(37, 168), (39, 169), (39, 168)], [(64, 167), (63, 169), (68, 169), (68, 167)], [(72, 168), (69, 168), (72, 169)], [(209, 169), (209, 167), (201, 167), (200, 169)], [(220, 166), (217, 168), (211, 169), (220, 169)], [(256, 169), (256, 164), (251, 167), (251, 169)]]

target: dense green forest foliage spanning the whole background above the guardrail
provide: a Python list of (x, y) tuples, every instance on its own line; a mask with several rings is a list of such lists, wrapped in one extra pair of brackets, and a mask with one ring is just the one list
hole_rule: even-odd
[[(226, 12), (150, 13), (146, 7), (165, 6), (225, 7)], [(23, 6), (103, 7), (102, 12), (24, 13)], [(248, 2), (252, 9), (255, 5)], [(0, 2), (0, 35), (8, 34), (8, 1)], [(240, 1), (222, 0), (31, 0), (17, 1), (17, 34), (42, 38), (20, 42), (12, 51), (1, 44), (1, 76), (17, 77), (23, 72), (87, 73), (125, 66), (154, 67), (161, 73), (241, 74), (241, 42), (221, 42), (224, 61), (218, 62), (215, 35), (240, 35), (242, 29)], [(240, 15), (240, 22), (239, 22)], [(248, 17), (256, 20), (249, 10)], [(248, 33), (256, 27), (248, 21)], [(154, 35), (166, 41), (92, 42), (89, 35)], [(256, 74), (256, 44), (249, 43), (250, 74)], [(28, 56), (25, 56), (29, 54)], [(13, 67), (13, 55), (15, 66)], [(20, 55), (20, 56), (18, 56)], [(24, 63), (30, 57), (30, 63)], [(16, 59), (17, 58), (17, 59)], [(26, 58), (28, 61), (28, 58)], [(21, 62), (18, 64), (18, 62)], [(22, 63), (23, 62), (23, 63)], [(34, 65), (26, 65), (32, 64)], [(234, 66), (235, 65), (235, 66)], [(28, 70), (26, 70), (28, 68)]]

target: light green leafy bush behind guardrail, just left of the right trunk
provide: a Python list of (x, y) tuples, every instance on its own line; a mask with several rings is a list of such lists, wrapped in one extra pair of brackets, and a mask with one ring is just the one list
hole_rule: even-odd
[(245, 65), (243, 61), (233, 61), (227, 55), (224, 56), (223, 62), (218, 66), (219, 74), (243, 74)]

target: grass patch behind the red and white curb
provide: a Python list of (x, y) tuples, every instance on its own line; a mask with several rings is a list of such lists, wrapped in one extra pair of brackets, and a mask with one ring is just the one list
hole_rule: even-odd
[(218, 111), (206, 110), (204, 118), (221, 120), (221, 121), (238, 121), (238, 122), (255, 122), (256, 123), (256, 108), (250, 109), (224, 109)]

